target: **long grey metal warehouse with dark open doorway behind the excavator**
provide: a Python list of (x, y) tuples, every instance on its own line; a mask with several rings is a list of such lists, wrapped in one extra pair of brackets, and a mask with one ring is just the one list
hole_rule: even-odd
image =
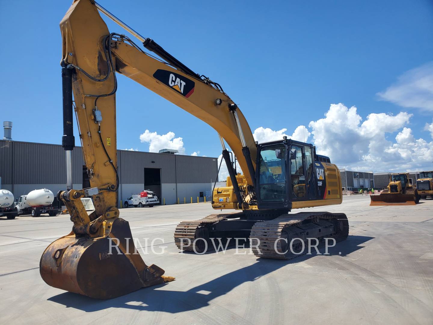
[[(193, 197), (204, 201), (206, 191), (216, 180), (217, 159), (117, 150), (119, 199), (124, 201), (143, 189), (157, 193), (165, 204)], [(81, 147), (72, 150), (73, 188), (89, 187)], [(66, 189), (65, 152), (61, 145), (0, 140), (1, 188), (15, 197), (36, 188), (53, 193)], [(87, 183), (87, 184), (86, 184)]]

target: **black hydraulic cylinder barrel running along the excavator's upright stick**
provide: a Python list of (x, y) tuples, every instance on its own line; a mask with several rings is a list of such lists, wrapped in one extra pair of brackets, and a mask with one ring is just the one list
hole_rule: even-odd
[(72, 150), (75, 146), (73, 108), (72, 108), (72, 69), (61, 68), (61, 84), (63, 91), (63, 136), (61, 145), (65, 150)]

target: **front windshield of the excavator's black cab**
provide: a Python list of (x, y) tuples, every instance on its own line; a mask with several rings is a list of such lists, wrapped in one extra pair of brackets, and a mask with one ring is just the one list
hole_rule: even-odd
[(283, 144), (265, 146), (260, 151), (259, 195), (262, 201), (286, 200), (285, 156)]

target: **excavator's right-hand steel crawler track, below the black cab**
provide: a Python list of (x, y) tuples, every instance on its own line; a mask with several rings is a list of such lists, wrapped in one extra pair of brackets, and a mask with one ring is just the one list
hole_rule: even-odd
[[(324, 230), (324, 231), (323, 231)], [(334, 238), (336, 242), (345, 240), (349, 235), (349, 223), (344, 213), (330, 212), (300, 212), (296, 214), (283, 214), (278, 218), (261, 221), (254, 224), (251, 230), (250, 241), (252, 251), (257, 257), (291, 260), (292, 258), (308, 253), (307, 239), (317, 238), (323, 247), (324, 238)], [(304, 250), (297, 252), (301, 241), (294, 241), (292, 253), (285, 240), (290, 244), (293, 238), (304, 241)], [(254, 239), (260, 240), (259, 244)], [(313, 243), (314, 244), (314, 243)], [(286, 252), (287, 253), (284, 253)], [(314, 252), (314, 248), (311, 249)]]

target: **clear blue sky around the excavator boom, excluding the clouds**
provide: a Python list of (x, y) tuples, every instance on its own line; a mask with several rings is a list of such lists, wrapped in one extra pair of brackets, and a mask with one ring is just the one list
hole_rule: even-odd
[[(431, 141), (424, 128), (432, 123), (432, 110), (402, 107), (378, 95), (406, 71), (433, 60), (431, 1), (100, 3), (220, 83), (253, 131), (285, 128), (290, 135), (297, 126), (323, 118), (330, 104), (343, 103), (356, 106), (362, 121), (371, 113), (413, 114), (405, 126), (415, 139)], [(70, 4), (0, 2), (1, 120), (13, 121), (14, 140), (61, 143), (58, 24)], [(110, 31), (124, 33), (107, 23)], [(149, 143), (139, 139), (148, 129), (174, 132), (188, 153), (220, 154), (216, 132), (206, 123), (134, 81), (123, 76), (118, 81), (119, 149), (148, 151)], [(400, 131), (385, 133), (385, 139), (395, 142)]]

